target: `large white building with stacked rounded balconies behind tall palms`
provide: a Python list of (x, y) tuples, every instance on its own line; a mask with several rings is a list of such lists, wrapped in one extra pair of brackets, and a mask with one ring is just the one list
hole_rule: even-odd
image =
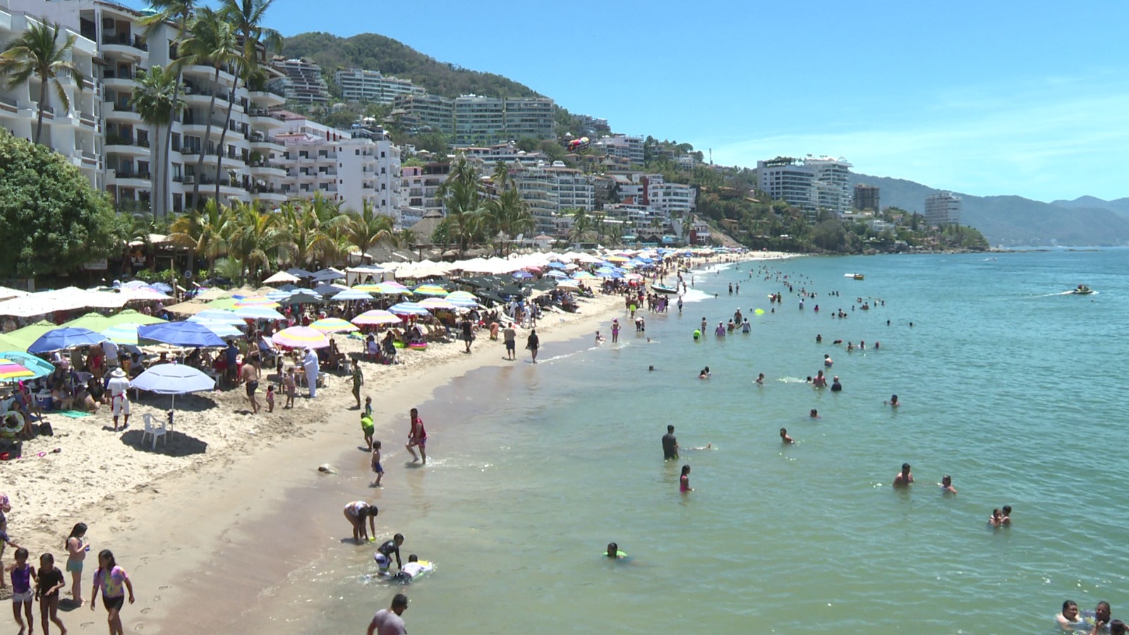
[[(198, 186), (201, 199), (211, 198), (216, 195), (217, 183), (222, 203), (259, 199), (277, 205), (285, 200), (281, 193), (270, 189), (270, 168), (252, 165), (255, 163), (253, 154), (262, 157), (260, 163), (269, 163), (282, 150), (270, 141), (271, 131), (282, 123), (268, 112), (283, 103), (280, 95), (270, 93), (265, 86), (253, 85), (247, 89), (240, 84), (236, 87), (230, 68), (221, 68), (217, 79), (212, 67), (184, 67), (182, 96), (185, 108), (173, 122), (165, 163), (164, 130), (158, 134), (141, 121), (130, 101), (138, 86), (138, 72), (152, 64), (167, 67), (170, 54), (175, 54), (173, 25), (158, 25), (147, 37), (146, 28), (138, 23), (149, 14), (108, 0), (0, 0), (0, 10), (10, 16), (5, 18), (6, 24), (17, 29), (26, 28), (28, 20), (43, 20), (58, 23), (61, 28), (81, 35), (73, 54), (79, 58), (80, 67), (85, 64), (90, 81), (84, 82), (84, 89), (76, 93), (78, 99), (73, 101), (78, 113), (77, 130), (64, 129), (72, 118), (52, 115), (50, 137), (49, 120), (44, 119), (43, 141), (80, 164), (90, 182), (104, 188), (120, 209), (181, 212), (191, 205)], [(265, 66), (265, 56), (261, 61)], [(269, 67), (268, 72), (273, 77)], [(11, 114), (34, 110), (35, 103), (29, 97), (38, 95), (37, 84), (29, 88), (28, 93), (17, 92), (12, 97), (17, 112)], [(211, 107), (213, 95), (215, 108)], [(61, 110), (55, 96), (50, 98), (51, 107)], [(229, 101), (231, 98), (234, 102)], [(231, 121), (224, 134), (229, 105)], [(23, 131), (25, 128), (23, 123), (12, 122), (9, 130)], [(19, 136), (30, 134), (21, 132)], [(217, 167), (220, 155), (222, 165)], [(161, 162), (166, 166), (163, 172), (172, 179), (163, 205), (150, 200), (155, 162)]]

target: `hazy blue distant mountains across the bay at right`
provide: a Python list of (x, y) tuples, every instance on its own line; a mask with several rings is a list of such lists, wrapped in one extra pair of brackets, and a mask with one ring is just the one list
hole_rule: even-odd
[[(904, 179), (851, 174), (851, 185), (856, 183), (877, 185), (882, 207), (919, 214), (925, 214), (926, 197), (945, 191)], [(1044, 203), (1023, 197), (954, 193), (963, 199), (961, 224), (975, 227), (994, 245), (1129, 244), (1129, 199), (1103, 201), (1083, 197)]]

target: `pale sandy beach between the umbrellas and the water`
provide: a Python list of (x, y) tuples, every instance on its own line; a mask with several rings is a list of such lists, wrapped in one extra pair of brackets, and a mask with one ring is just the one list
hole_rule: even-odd
[[(548, 314), (537, 325), (542, 358), (552, 355), (554, 345), (590, 337), (622, 314), (622, 296), (605, 295), (584, 301), (578, 313)], [(518, 332), (519, 343), (525, 334)], [(360, 350), (360, 340), (336, 339), (347, 354)], [(507, 362), (501, 342), (481, 333), (471, 355), (463, 353), (461, 342), (452, 342), (401, 351), (401, 365), (362, 364), (362, 397), (373, 397), (377, 437), (403, 438), (408, 409), (454, 377), (488, 365), (528, 364), (523, 348), (518, 362)], [(279, 394), (274, 412), (264, 408), (257, 416), (242, 390), (177, 398), (176, 432), (167, 447), (166, 440), (159, 440), (156, 451), (149, 443), (141, 445), (141, 417), (163, 417), (167, 397), (142, 393), (124, 433), (108, 427), (105, 407), (90, 417), (50, 417), (55, 436), (26, 443), (26, 459), (3, 464), (2, 490), (12, 505), (9, 534), (33, 557), (50, 551), (60, 560), (65, 558), (62, 547), (70, 528), (87, 523), (91, 553), (113, 550), (134, 580), (137, 603), (123, 611), (130, 630), (189, 632), (185, 624), (202, 626), (202, 610), (228, 618), (244, 615), (255, 598), (269, 595), (279, 576), (304, 562), (300, 548), (279, 549), (278, 536), (264, 533), (285, 536), (286, 545), (343, 534), (339, 511), (344, 502), (312, 501), (310, 507), (327, 504), (338, 511), (322, 519), (295, 501), (312, 479), (324, 478), (320, 464), (334, 463), (348, 451), (358, 455), (357, 462), (367, 461), (356, 451), (361, 436), (350, 388), (347, 376), (333, 376), (316, 400), (306, 399), (299, 389), (292, 410), (281, 408), (285, 397)], [(399, 443), (385, 447), (406, 456)], [(5, 556), (9, 564), (11, 549)], [(91, 575), (84, 574), (86, 598)], [(8, 593), (5, 590), (3, 597)], [(65, 601), (64, 608), (70, 608)], [(100, 607), (61, 615), (71, 630), (105, 628)]]

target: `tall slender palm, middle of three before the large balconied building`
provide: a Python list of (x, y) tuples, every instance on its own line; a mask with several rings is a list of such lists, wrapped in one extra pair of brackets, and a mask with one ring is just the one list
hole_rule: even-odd
[[(239, 56), (238, 41), (231, 25), (217, 11), (204, 7), (200, 9), (189, 29), (189, 36), (181, 43), (181, 56), (176, 60), (177, 68), (185, 66), (207, 66), (216, 69), (215, 87), (212, 89), (211, 103), (208, 105), (208, 123), (204, 125), (204, 138), (200, 148), (200, 158), (196, 159), (196, 177), (192, 185), (192, 207), (199, 209), (200, 203), (200, 181), (203, 177), (204, 153), (208, 151), (208, 141), (211, 137), (212, 119), (211, 113), (216, 110), (216, 93), (219, 90), (219, 71), (224, 67), (236, 63)], [(227, 129), (227, 124), (224, 125)], [(217, 150), (222, 153), (224, 148)], [(216, 173), (216, 182), (219, 182), (220, 174)], [(219, 192), (217, 188), (217, 193)], [(217, 195), (218, 198), (218, 195)]]

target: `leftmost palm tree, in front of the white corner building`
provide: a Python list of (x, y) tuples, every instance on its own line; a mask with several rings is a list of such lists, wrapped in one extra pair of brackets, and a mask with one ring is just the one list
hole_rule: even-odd
[(47, 26), (32, 23), (18, 40), (0, 53), (0, 73), (8, 76), (8, 88), (28, 84), (32, 77), (40, 80), (40, 112), (35, 124), (35, 142), (40, 142), (43, 133), (43, 111), (47, 107), (47, 85), (55, 89), (55, 95), (67, 112), (70, 112), (70, 96), (60, 76), (69, 75), (75, 79), (78, 89), (82, 89), (82, 71), (70, 60), (71, 49), (78, 36), (73, 33), (67, 36), (67, 42), (59, 45), (59, 24)]

